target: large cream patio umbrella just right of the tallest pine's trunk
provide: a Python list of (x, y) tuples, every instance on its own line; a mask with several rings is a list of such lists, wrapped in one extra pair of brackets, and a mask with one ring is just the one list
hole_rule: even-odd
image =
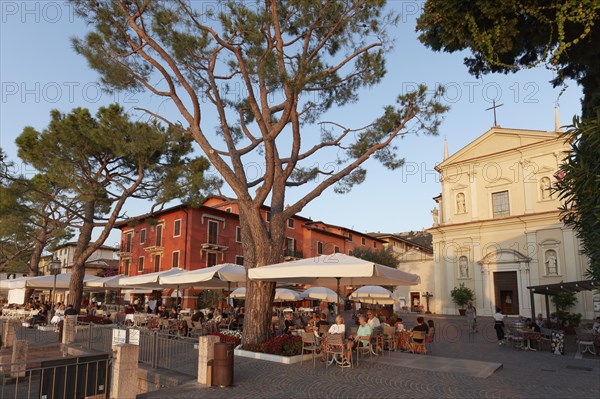
[(248, 270), (250, 280), (296, 282), (315, 285), (417, 285), (421, 278), (341, 253), (277, 263)]

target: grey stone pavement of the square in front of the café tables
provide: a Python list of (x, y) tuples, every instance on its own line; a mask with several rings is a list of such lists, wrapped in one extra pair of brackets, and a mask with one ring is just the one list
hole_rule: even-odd
[[(416, 315), (403, 315), (414, 323)], [(468, 334), (458, 316), (425, 315), (436, 322), (432, 353), (392, 352), (360, 367), (325, 368), (312, 361), (282, 365), (235, 358), (234, 386), (205, 388), (190, 381), (138, 398), (598, 398), (600, 357), (575, 357), (573, 342), (565, 356), (499, 346), (491, 318), (479, 317), (479, 332)], [(347, 325), (352, 325), (348, 323)], [(433, 360), (435, 359), (435, 360)], [(495, 372), (477, 370), (501, 363)], [(428, 365), (431, 366), (428, 369)], [(469, 365), (465, 371), (465, 365)], [(473, 369), (472, 365), (475, 365)], [(481, 371), (480, 377), (475, 375)]]

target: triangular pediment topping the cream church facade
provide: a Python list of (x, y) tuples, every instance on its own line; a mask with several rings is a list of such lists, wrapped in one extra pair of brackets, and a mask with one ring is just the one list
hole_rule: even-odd
[(557, 138), (559, 133), (493, 127), (438, 165), (446, 166)]

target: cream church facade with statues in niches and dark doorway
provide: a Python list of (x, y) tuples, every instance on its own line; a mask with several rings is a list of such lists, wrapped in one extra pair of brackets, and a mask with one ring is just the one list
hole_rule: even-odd
[[(456, 314), (450, 291), (475, 291), (478, 314), (495, 307), (531, 315), (528, 286), (584, 280), (587, 260), (574, 231), (560, 220), (553, 192), (568, 153), (561, 132), (494, 126), (436, 170), (442, 192), (428, 230), (434, 249), (434, 312)], [(591, 294), (580, 293), (572, 311), (593, 317)], [(589, 296), (589, 298), (588, 298)], [(536, 312), (545, 314), (541, 295)], [(554, 311), (552, 304), (551, 312)]]

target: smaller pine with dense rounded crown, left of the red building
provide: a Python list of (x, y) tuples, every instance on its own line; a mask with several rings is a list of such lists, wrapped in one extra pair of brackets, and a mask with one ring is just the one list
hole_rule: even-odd
[[(59, 188), (52, 203), (75, 215), (69, 225), (79, 236), (69, 291), (76, 308), (83, 295), (85, 262), (124, 216), (127, 199), (168, 201), (181, 192), (173, 188), (180, 171), (194, 168), (188, 173), (198, 177), (197, 183), (209, 166), (206, 159), (186, 157), (191, 141), (180, 130), (133, 122), (118, 105), (101, 107), (95, 117), (82, 108), (70, 114), (52, 111), (44, 131), (26, 127), (16, 143), (19, 157)], [(92, 242), (95, 228), (100, 234)]]

